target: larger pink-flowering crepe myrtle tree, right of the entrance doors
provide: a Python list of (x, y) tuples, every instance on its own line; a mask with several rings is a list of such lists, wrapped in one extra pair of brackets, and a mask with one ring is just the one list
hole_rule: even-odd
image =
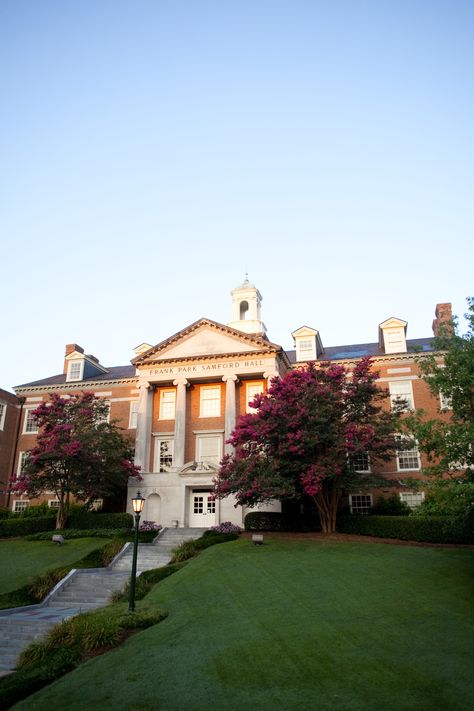
[(376, 483), (357, 471), (354, 455), (367, 454), (373, 467), (400, 448), (400, 413), (383, 407), (378, 377), (364, 358), (353, 368), (310, 363), (274, 378), (229, 439), (235, 450), (222, 460), (216, 498), (234, 494), (237, 504), (254, 506), (309, 495), (323, 532), (334, 532), (342, 493)]

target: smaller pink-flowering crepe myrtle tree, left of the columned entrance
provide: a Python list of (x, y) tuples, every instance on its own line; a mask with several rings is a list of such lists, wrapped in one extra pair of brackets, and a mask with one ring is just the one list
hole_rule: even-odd
[(10, 491), (36, 497), (54, 491), (56, 528), (64, 528), (71, 497), (91, 503), (139, 478), (129, 440), (115, 422), (107, 422), (108, 403), (91, 392), (63, 398), (53, 394), (33, 414), (39, 425), (36, 445), (28, 453)]

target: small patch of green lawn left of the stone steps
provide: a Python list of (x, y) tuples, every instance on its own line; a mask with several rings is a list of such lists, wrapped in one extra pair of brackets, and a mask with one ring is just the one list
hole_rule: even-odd
[[(51, 535), (53, 532), (51, 533)], [(16, 590), (36, 575), (80, 560), (94, 548), (107, 543), (104, 538), (78, 538), (62, 545), (52, 541), (0, 541), (0, 594)]]

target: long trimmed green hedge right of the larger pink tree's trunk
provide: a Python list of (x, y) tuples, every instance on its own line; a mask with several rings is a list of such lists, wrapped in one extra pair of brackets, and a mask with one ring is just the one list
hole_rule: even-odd
[(474, 543), (474, 531), (450, 516), (342, 516), (340, 533), (425, 543)]

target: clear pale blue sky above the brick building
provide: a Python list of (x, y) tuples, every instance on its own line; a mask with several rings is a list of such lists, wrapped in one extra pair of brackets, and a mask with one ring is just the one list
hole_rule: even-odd
[(271, 340), (428, 336), (473, 289), (474, 3), (2, 0), (0, 387), (246, 271)]

